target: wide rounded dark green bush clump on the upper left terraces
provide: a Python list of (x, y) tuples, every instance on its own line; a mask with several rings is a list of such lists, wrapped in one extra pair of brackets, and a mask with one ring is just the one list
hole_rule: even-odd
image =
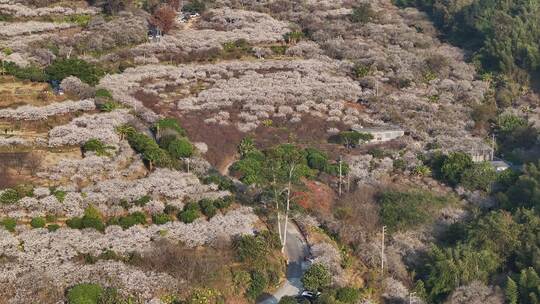
[(45, 69), (45, 73), (49, 80), (62, 81), (68, 76), (75, 76), (92, 86), (104, 75), (96, 66), (77, 58), (57, 59)]

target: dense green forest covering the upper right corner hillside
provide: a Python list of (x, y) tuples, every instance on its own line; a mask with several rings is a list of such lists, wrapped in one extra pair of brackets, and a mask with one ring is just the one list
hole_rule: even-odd
[(484, 71), (522, 84), (540, 68), (538, 0), (395, 0), (426, 11), (448, 41), (474, 52)]

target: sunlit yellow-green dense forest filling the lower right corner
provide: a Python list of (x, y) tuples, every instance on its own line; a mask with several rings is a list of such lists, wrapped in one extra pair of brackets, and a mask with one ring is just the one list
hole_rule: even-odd
[(475, 280), (501, 286), (507, 303), (540, 303), (539, 166), (508, 171), (497, 184), (496, 207), (453, 224), (416, 269), (429, 303)]

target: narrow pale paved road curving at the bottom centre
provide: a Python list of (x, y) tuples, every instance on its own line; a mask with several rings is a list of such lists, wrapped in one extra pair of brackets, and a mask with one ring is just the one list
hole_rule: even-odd
[(304, 260), (308, 255), (309, 248), (300, 230), (294, 223), (289, 222), (285, 246), (285, 257), (288, 260), (287, 279), (274, 294), (259, 304), (276, 304), (284, 296), (299, 295), (303, 290), (301, 279), (307, 268), (307, 262)]

